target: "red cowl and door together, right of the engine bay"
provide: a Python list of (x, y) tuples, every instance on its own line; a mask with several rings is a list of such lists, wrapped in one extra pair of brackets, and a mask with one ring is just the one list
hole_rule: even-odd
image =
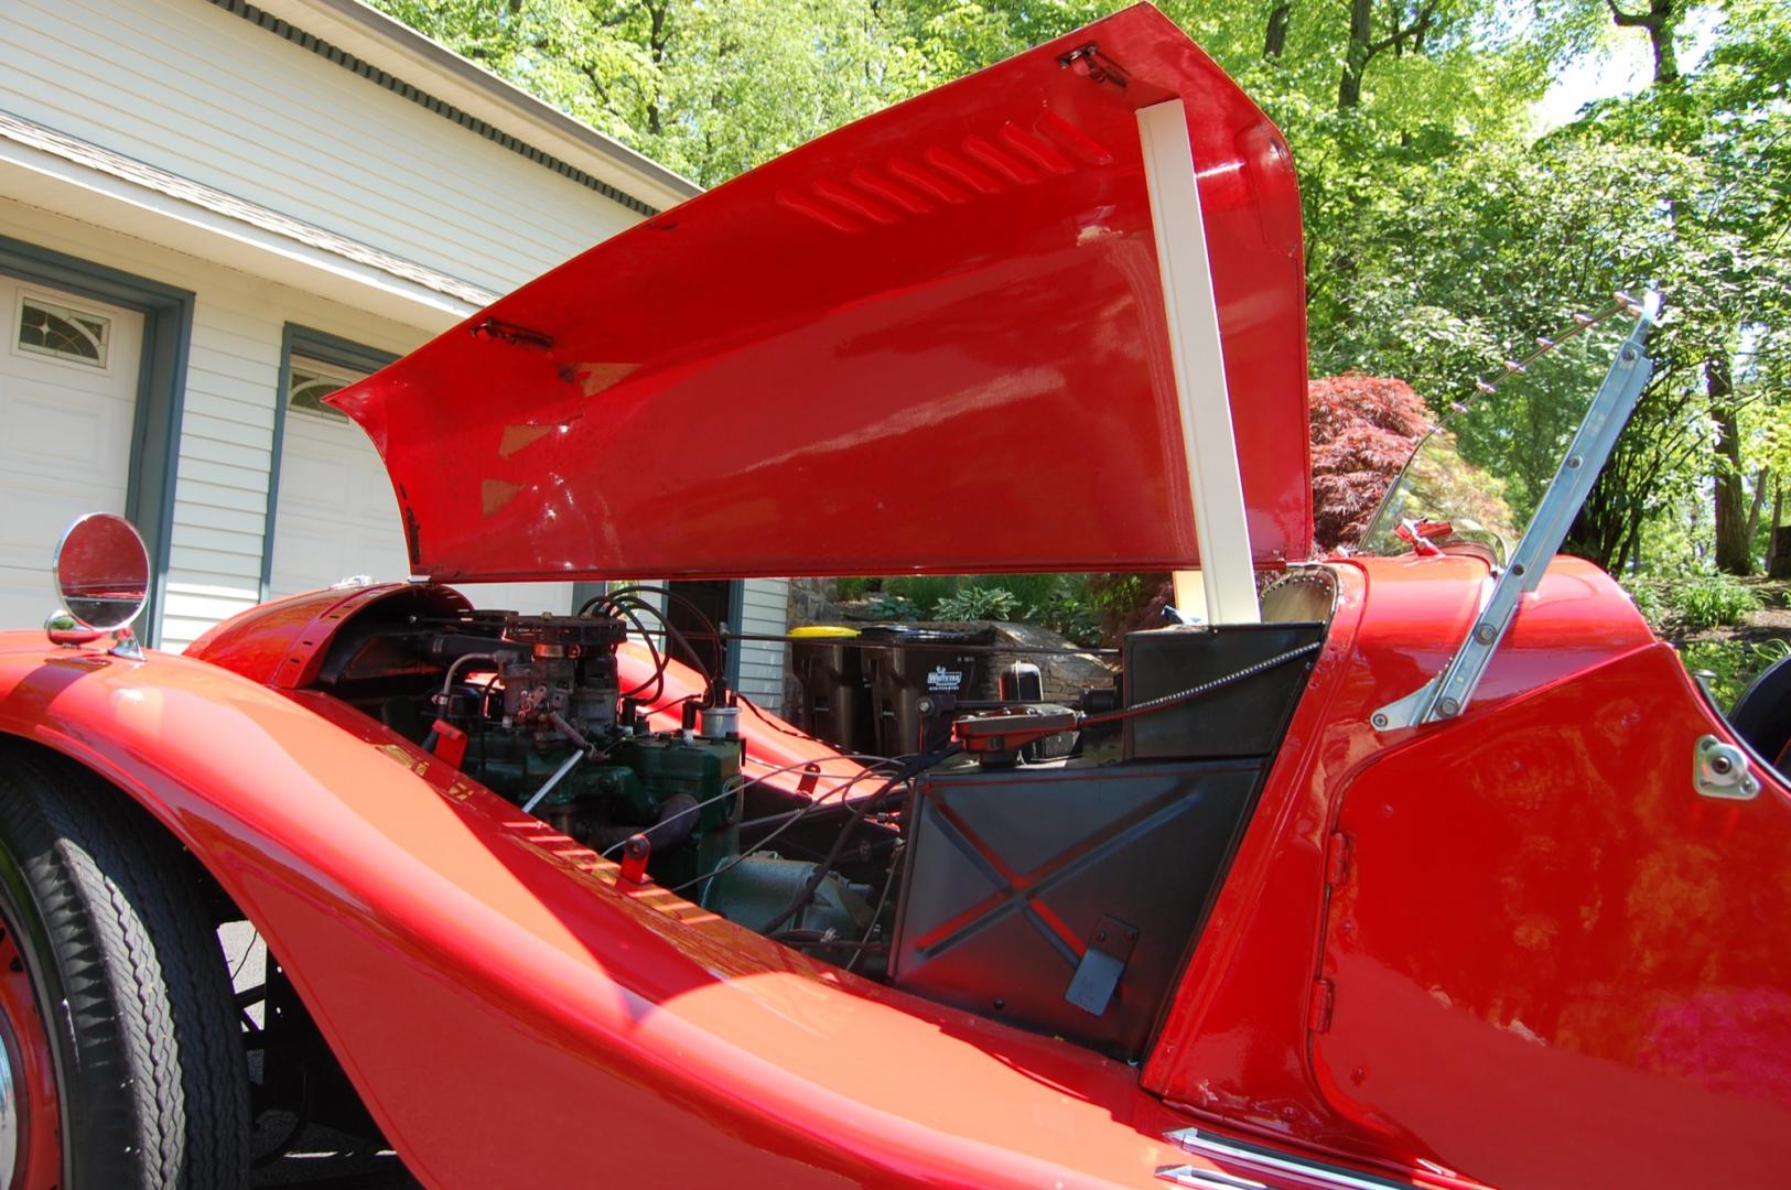
[[(1723, 1169), (1732, 1185), (1759, 1185), (1762, 1161), (1782, 1169), (1782, 1124), (1773, 1138), (1755, 1126), (1780, 1118), (1791, 1068), (1773, 1016), (1791, 966), (1762, 941), (1791, 932), (1791, 793), (1768, 777), (1737, 814), (1692, 791), (1691, 741), (1732, 735), (1623, 591), (1576, 558), (1526, 598), (1469, 714), (1381, 735), (1368, 716), (1442, 667), (1487, 567), (1361, 558), (1338, 574), (1325, 653), (1144, 1084), (1288, 1142), (1495, 1185), (1651, 1183), (1667, 1104), (1685, 1169)], [(1626, 929), (1623, 902), (1660, 882), (1650, 868), (1712, 859), (1718, 823), (1737, 818), (1755, 837), (1721, 852), (1721, 871), (1701, 871), (1721, 886), (1698, 895), (1735, 913), (1682, 916), (1676, 936), (1671, 913), (1642, 916), (1651, 934)], [(1340, 830), (1350, 859), (1327, 932)], [(1538, 929), (1528, 914), (1562, 929), (1594, 902), (1610, 907), (1598, 945), (1555, 934), (1553, 963), (1519, 945)], [(1730, 950), (1734, 975), (1709, 961)], [(1320, 977), (1333, 1020), (1315, 1031)], [(1549, 1031), (1519, 1045), (1513, 1011)], [(1710, 1011), (1757, 1052), (1712, 1041), (1698, 1054), (1714, 1065), (1691, 1074), (1641, 1043), (1642, 1018), (1651, 1031)], [(1562, 1113), (1569, 1092), (1585, 1102)], [(1698, 1140), (1718, 1136), (1728, 1154)]]

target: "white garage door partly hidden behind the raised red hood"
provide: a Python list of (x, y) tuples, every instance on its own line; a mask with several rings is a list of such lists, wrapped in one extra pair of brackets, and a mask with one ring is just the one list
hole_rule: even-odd
[[(360, 426), (322, 397), (358, 374), (292, 356), (287, 429), (279, 453), (272, 594), (297, 594), (367, 574), (376, 582), (410, 573), (392, 481)], [(571, 610), (571, 583), (466, 583), (476, 607), (521, 612)]]

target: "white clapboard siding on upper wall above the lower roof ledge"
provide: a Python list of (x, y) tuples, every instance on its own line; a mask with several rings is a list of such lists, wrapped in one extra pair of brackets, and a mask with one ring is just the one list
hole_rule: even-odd
[(0, 109), (494, 292), (638, 218), (204, 0), (7, 0), (4, 23)]

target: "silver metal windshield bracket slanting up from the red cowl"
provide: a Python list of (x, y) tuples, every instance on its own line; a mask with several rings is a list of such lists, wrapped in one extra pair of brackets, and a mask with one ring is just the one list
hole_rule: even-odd
[(1492, 585), (1492, 594), (1474, 617), (1467, 639), (1440, 675), (1375, 710), (1370, 718), (1375, 730), (1422, 727), (1453, 719), (1467, 710), (1492, 655), (1522, 605), (1522, 596), (1537, 589), (1549, 562), (1560, 553), (1572, 519), (1580, 515), (1598, 472), (1605, 469), (1617, 437), (1635, 410), (1635, 401), (1642, 395), (1642, 387), (1653, 376), (1655, 363), (1648, 358), (1646, 340), (1658, 315), (1660, 293), (1650, 292), (1637, 311), (1635, 329), (1617, 347), (1617, 358), (1605, 374), (1605, 383), (1598, 387), (1598, 395), (1592, 397), (1567, 456), (1549, 480), (1542, 503), (1537, 505), (1537, 515), (1530, 519), (1530, 528), (1512, 551), (1504, 573)]

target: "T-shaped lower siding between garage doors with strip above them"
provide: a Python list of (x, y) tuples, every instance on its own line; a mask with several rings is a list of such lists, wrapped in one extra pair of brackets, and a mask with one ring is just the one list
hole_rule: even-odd
[(195, 293), (161, 646), (186, 648), (261, 596), (279, 345), (287, 322), (403, 353), (430, 331), (374, 319), (39, 208), (0, 200), (0, 236)]

